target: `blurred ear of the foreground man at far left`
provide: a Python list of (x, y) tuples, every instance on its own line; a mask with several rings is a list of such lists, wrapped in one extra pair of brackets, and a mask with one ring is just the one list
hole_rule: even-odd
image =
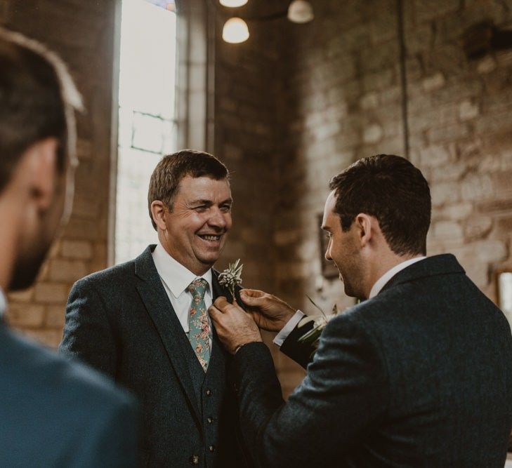
[(25, 180), (29, 197), (39, 210), (53, 203), (57, 181), (57, 138), (45, 138), (31, 145), (22, 156), (20, 174)]

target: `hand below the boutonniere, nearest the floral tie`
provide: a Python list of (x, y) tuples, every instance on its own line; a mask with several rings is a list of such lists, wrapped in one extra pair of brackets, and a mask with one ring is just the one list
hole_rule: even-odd
[(225, 297), (217, 297), (208, 312), (218, 337), (231, 354), (235, 354), (242, 345), (262, 341), (260, 330), (251, 316), (239, 305), (230, 304)]

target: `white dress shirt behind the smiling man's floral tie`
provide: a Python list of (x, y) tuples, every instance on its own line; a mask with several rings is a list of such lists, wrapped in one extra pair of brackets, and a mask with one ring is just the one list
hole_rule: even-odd
[[(195, 279), (205, 279), (208, 283), (206, 293), (204, 293), (204, 304), (206, 309), (212, 304), (212, 297), (214, 297), (211, 289), (211, 269), (209, 269), (204, 275), (197, 276), (190, 272), (189, 269), (180, 264), (177, 260), (167, 253), (160, 243), (157, 243), (155, 250), (153, 250), (153, 261), (157, 272), (164, 285), (165, 292), (169, 296), (171, 305), (173, 306), (174, 312), (183, 327), (183, 331), (188, 333), (188, 312), (190, 305), (192, 304), (192, 294), (188, 292), (187, 288), (192, 281)], [(208, 316), (208, 323), (210, 328), (210, 349), (211, 349), (211, 320)]]

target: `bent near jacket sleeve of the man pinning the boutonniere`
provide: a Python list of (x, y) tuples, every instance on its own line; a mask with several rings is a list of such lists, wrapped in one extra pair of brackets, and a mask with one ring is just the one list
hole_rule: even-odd
[(343, 314), (322, 333), (287, 403), (262, 343), (235, 354), (242, 430), (258, 467), (341, 466), (340, 456), (386, 410), (386, 366), (365, 327)]

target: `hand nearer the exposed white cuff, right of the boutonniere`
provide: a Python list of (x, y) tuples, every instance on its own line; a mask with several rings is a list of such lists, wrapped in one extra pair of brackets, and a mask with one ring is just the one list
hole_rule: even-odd
[(267, 331), (281, 331), (297, 312), (279, 297), (256, 289), (242, 289), (240, 298), (256, 325)]

